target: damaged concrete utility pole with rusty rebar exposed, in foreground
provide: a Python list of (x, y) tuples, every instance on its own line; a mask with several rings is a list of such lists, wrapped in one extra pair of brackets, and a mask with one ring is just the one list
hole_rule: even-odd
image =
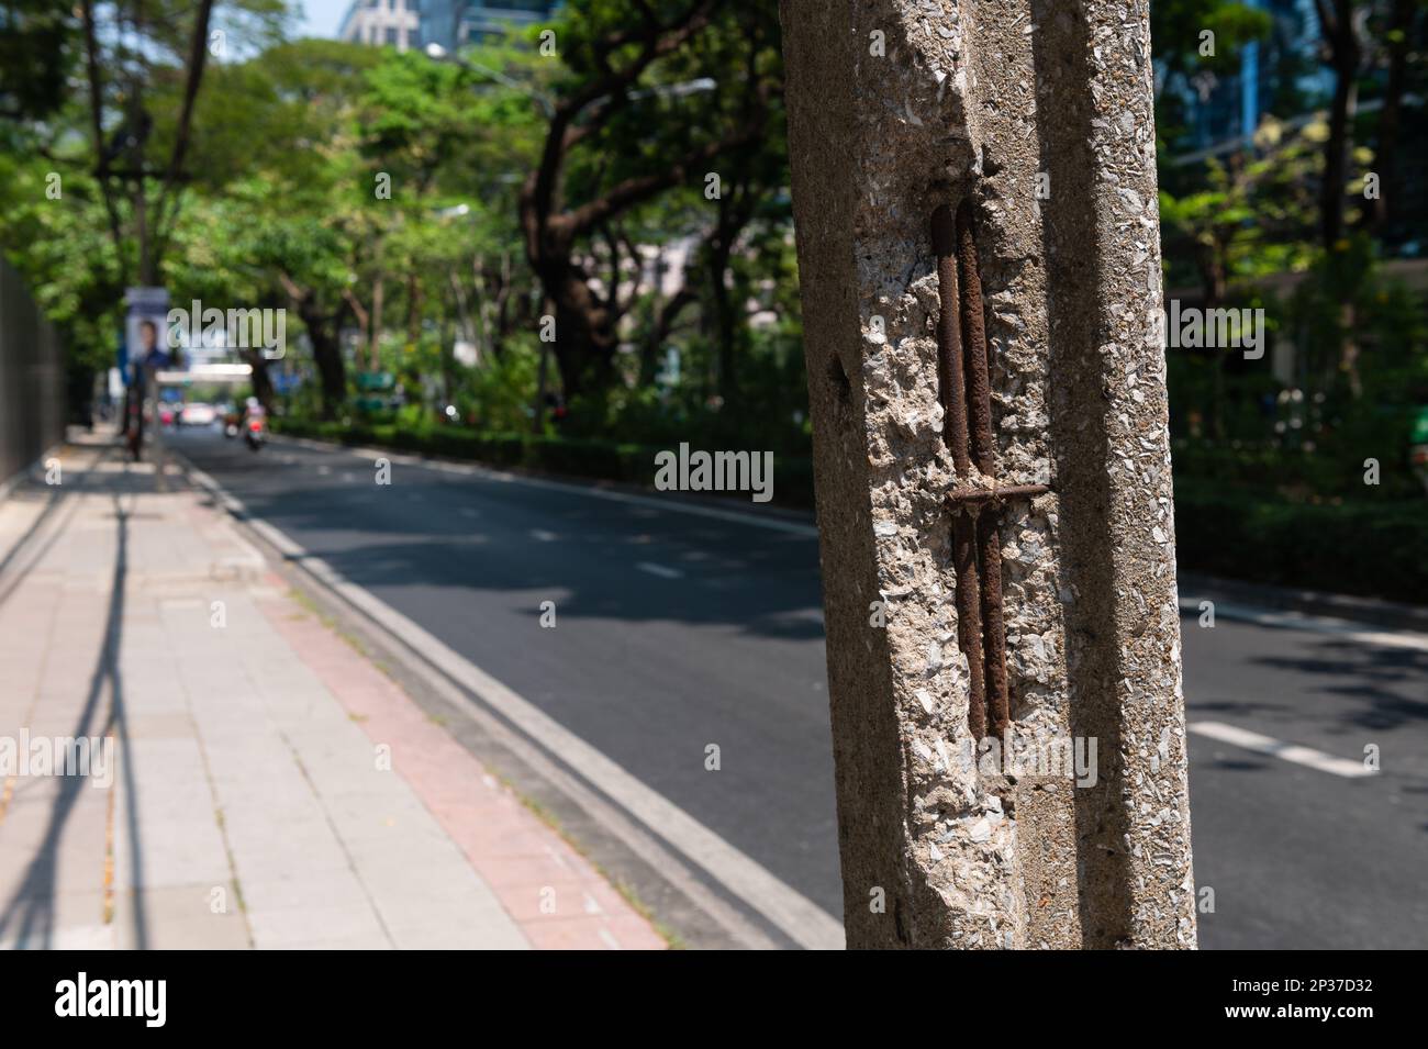
[(850, 946), (1195, 946), (1148, 17), (783, 0)]

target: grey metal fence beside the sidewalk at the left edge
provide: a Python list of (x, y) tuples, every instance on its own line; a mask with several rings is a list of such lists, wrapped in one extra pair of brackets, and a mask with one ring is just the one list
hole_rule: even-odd
[(60, 340), (0, 258), (0, 484), (64, 437), (64, 395)]

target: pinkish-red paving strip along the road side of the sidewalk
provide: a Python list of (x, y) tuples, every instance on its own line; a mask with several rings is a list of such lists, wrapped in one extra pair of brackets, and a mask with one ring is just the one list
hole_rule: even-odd
[[(274, 587), (286, 587), (270, 577)], [(258, 601), (486, 879), (538, 949), (667, 948), (590, 862), (527, 809), (387, 675), (286, 598)], [(544, 908), (543, 902), (550, 901)], [(547, 913), (550, 912), (550, 913)]]

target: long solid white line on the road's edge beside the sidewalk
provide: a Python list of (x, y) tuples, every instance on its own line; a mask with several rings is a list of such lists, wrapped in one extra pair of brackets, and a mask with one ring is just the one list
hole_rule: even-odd
[(487, 705), (517, 725), (528, 739), (575, 769), (628, 815), (668, 842), (691, 862), (704, 868), (728, 892), (783, 929), (797, 943), (814, 951), (844, 948), (843, 922), (780, 879), (758, 861), (730, 845), (664, 795), (651, 791), (623, 766), (570, 732), (514, 689), (490, 676), (466, 657), (458, 655), (424, 628), (388, 608), (336, 568), (313, 557), (267, 521), (247, 511), (208, 474), (188, 461), (193, 478), (213, 492), (230, 512), (241, 515), (264, 539), (326, 587), (341, 595), (396, 638), (406, 642), (433, 667), (461, 682)]

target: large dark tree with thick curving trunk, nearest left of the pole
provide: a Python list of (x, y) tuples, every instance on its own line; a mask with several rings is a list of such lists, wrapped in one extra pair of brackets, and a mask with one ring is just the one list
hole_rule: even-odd
[[(625, 0), (578, 0), (567, 9), (561, 54), (570, 76), (520, 194), (526, 255), (554, 307), (567, 397), (598, 392), (613, 381), (618, 323), (630, 305), (620, 298), (618, 281), (600, 293), (578, 245), (603, 237), (614, 255), (610, 271), (618, 274), (620, 220), (707, 176), (711, 161), (755, 141), (768, 120), (778, 90), (773, 63), (681, 64), (685, 76), (698, 70), (713, 81), (713, 90), (700, 93), (690, 80), (670, 76), (675, 56), (704, 54), (697, 41), (715, 23), (751, 51), (777, 47), (770, 11), (727, 10), (714, 0), (691, 0), (671, 14)], [(633, 127), (650, 134), (635, 154), (615, 156), (601, 147), (617, 127), (625, 143), (637, 138)], [(578, 176), (567, 180), (571, 171)]]

